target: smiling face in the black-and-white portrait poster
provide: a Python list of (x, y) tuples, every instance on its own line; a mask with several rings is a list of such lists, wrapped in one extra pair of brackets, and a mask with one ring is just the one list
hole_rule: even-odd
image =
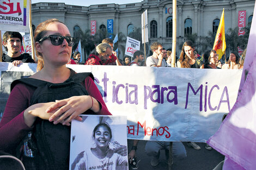
[(105, 125), (101, 125), (99, 128), (96, 129), (94, 140), (97, 147), (107, 147), (108, 143), (110, 142), (111, 134), (109, 133), (108, 129)]

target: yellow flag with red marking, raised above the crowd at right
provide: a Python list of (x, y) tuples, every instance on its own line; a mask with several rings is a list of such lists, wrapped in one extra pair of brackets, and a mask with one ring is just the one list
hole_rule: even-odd
[(214, 49), (218, 54), (218, 59), (220, 60), (222, 55), (225, 53), (226, 41), (225, 41), (225, 21), (224, 21), (224, 8), (221, 15), (220, 25), (216, 33), (214, 41)]

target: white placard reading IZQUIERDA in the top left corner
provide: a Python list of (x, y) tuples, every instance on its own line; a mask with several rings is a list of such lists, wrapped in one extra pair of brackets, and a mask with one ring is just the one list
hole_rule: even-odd
[(0, 29), (29, 32), (30, 0), (0, 1)]

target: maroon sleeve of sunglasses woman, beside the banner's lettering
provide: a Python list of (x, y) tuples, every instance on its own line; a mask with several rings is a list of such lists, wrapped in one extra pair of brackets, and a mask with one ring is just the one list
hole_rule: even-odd
[(94, 83), (93, 79), (89, 76), (84, 80), (85, 88), (88, 91), (88, 95), (94, 97), (100, 104), (101, 104), (101, 110), (97, 112), (99, 115), (112, 115), (108, 109), (107, 106), (100, 94), (99, 89), (97, 88), (96, 84)]

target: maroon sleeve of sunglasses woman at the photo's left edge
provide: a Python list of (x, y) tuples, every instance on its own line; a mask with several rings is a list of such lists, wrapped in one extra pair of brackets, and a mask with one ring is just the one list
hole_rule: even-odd
[(17, 84), (11, 91), (0, 122), (0, 150), (12, 153), (22, 138), (32, 130), (23, 118), (29, 106), (31, 91), (26, 85)]

